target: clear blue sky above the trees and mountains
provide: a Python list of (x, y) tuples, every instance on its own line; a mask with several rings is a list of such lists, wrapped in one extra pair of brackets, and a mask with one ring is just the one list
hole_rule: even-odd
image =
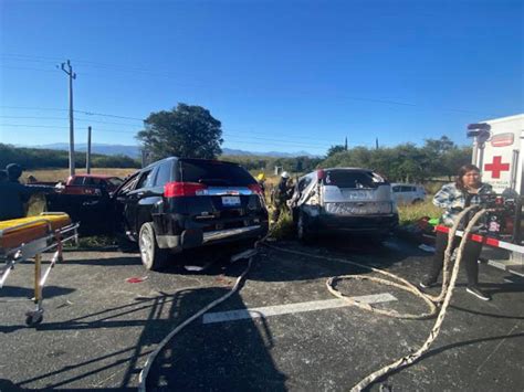
[(66, 59), (77, 142), (92, 125), (95, 142), (136, 144), (139, 119), (179, 102), (222, 121), (223, 147), (313, 153), (346, 136), (464, 145), (467, 124), (524, 112), (522, 1), (0, 7), (1, 142), (67, 141)]

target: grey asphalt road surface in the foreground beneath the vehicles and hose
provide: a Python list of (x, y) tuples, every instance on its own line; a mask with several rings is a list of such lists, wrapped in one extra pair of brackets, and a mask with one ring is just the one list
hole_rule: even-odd
[[(276, 245), (371, 264), (413, 283), (431, 257), (397, 240), (382, 246), (335, 240)], [(0, 289), (0, 390), (135, 390), (147, 354), (178, 324), (227, 293), (245, 268), (245, 261), (228, 262), (231, 252), (196, 252), (164, 273), (146, 273), (136, 254), (67, 252), (44, 288), (45, 316), (36, 328), (24, 325), (24, 312), (33, 307), (32, 264), (18, 265)], [(191, 272), (185, 265), (206, 268)], [(326, 278), (361, 272), (264, 248), (240, 293), (161, 351), (148, 390), (350, 389), (415, 351), (434, 324), (336, 306)], [(130, 277), (144, 279), (126, 282)], [(461, 274), (434, 346), (373, 391), (524, 390), (524, 282), (488, 265), (481, 265), (480, 280), (493, 300), (467, 294)], [(379, 308), (425, 310), (420, 299), (389, 286), (352, 280), (338, 288), (349, 296), (389, 298), (374, 305)]]

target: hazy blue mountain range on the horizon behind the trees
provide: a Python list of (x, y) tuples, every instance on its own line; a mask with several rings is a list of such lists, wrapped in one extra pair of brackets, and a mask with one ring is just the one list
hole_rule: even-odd
[[(27, 146), (32, 148), (46, 148), (50, 150), (69, 150), (70, 145), (66, 142), (55, 142), (51, 145), (41, 145), (41, 146)], [(75, 144), (75, 151), (85, 151), (87, 145), (85, 144)], [(123, 146), (123, 145), (102, 145), (93, 144), (91, 146), (91, 151), (93, 153), (102, 153), (107, 156), (124, 155), (130, 158), (140, 157), (139, 146)], [(311, 157), (316, 158), (317, 156), (310, 153), (307, 151), (296, 151), (296, 152), (279, 152), (279, 151), (268, 151), (268, 152), (256, 152), (256, 151), (244, 151), (237, 150), (231, 148), (222, 148), (222, 155), (224, 156), (259, 156), (259, 157), (275, 157), (275, 158), (293, 158), (293, 157)]]

